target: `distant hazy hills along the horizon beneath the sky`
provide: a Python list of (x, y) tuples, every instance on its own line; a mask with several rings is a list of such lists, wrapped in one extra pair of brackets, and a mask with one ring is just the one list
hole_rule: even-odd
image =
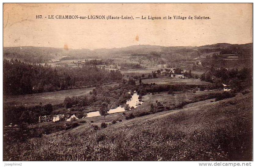
[[(163, 55), (171, 59), (193, 59), (200, 55), (221, 52), (240, 52), (245, 55), (252, 53), (253, 44), (228, 44), (218, 43), (211, 45), (204, 45), (199, 47), (192, 46), (158, 46), (158, 45), (133, 45), (124, 48), (111, 48), (111, 49), (69, 49), (64, 48), (50, 48), (50, 47), (4, 47), (4, 58), (7, 59), (21, 59), (25, 62), (43, 63), (48, 62), (50, 59), (57, 59), (66, 57), (67, 59), (84, 59), (84, 58), (106, 58), (122, 54), (137, 54), (140, 55)], [(139, 53), (139, 54), (138, 54)]]

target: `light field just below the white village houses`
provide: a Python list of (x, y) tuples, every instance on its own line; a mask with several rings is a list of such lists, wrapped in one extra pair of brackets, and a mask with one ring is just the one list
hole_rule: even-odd
[[(138, 82), (138, 81), (137, 81)], [(180, 84), (180, 85), (210, 85), (211, 83), (201, 81), (200, 79), (194, 78), (170, 78), (170, 77), (160, 77), (160, 78), (150, 78), (142, 80), (142, 83), (155, 83), (158, 85), (168, 85), (168, 84)]]

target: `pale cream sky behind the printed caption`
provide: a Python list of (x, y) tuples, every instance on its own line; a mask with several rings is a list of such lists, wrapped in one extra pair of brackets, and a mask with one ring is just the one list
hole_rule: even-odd
[[(131, 45), (201, 46), (252, 42), (252, 4), (10, 4), (3, 7), (4, 47), (67, 49)], [(42, 19), (36, 19), (42, 15)], [(47, 19), (48, 15), (161, 16), (161, 20)], [(209, 16), (174, 20), (173, 16)], [(171, 16), (171, 20), (163, 20)], [(47, 17), (47, 18), (45, 18)]]

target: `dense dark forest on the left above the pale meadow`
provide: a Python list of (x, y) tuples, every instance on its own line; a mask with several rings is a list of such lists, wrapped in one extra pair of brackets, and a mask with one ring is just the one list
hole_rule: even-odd
[(36, 65), (18, 60), (3, 61), (4, 94), (31, 94), (97, 86), (122, 80), (119, 70), (107, 71), (95, 66), (81, 68), (53, 68), (48, 64)]

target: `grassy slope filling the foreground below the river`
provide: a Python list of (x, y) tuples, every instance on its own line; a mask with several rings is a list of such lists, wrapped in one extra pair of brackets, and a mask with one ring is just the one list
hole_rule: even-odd
[[(4, 160), (252, 159), (252, 95), (124, 120), (90, 123), (6, 149)], [(92, 123), (99, 124), (99, 123)]]

